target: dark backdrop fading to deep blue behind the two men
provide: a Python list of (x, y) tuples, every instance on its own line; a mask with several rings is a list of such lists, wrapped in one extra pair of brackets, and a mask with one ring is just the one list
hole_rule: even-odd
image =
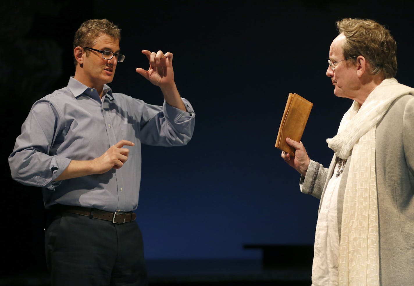
[[(313, 244), (318, 200), (301, 194), (299, 175), (274, 147), (289, 92), (314, 103), (302, 141), (329, 164), (349, 99), (326, 77), (329, 46), (343, 17), (385, 24), (398, 46), (399, 82), (414, 86), (410, 1), (26, 1), (6, 3), (2, 25), (3, 172), (10, 267), (43, 264), (41, 189), (11, 180), (7, 156), (31, 105), (74, 74), (72, 40), (87, 19), (122, 29), (115, 92), (162, 104), (161, 91), (135, 72), (142, 49), (170, 51), (176, 84), (196, 112), (185, 147), (142, 147), (136, 211), (147, 259), (244, 259), (245, 243)], [(20, 267), (19, 267), (20, 268)]]

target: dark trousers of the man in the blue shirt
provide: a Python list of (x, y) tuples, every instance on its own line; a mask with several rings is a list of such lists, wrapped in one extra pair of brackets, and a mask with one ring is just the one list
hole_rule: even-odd
[(53, 215), (45, 250), (52, 285), (148, 285), (135, 221), (113, 224), (78, 214)]

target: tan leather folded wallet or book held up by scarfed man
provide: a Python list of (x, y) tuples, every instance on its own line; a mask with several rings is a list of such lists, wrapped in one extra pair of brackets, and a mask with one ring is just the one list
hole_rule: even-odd
[(274, 147), (295, 156), (295, 149), (286, 143), (286, 137), (301, 141), (312, 106), (313, 103), (302, 96), (289, 93)]

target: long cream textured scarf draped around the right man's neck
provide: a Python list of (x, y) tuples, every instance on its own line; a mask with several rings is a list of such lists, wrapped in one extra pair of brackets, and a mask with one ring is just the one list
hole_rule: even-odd
[(414, 89), (385, 79), (359, 108), (354, 101), (339, 124), (338, 134), (327, 139), (335, 155), (348, 159), (339, 250), (339, 286), (378, 286), (378, 207), (375, 177), (375, 127), (395, 99)]

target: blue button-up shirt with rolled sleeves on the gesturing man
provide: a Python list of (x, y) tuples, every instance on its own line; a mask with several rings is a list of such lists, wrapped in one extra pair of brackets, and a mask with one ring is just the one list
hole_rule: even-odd
[[(71, 77), (67, 87), (36, 101), (22, 125), (9, 157), (12, 177), (43, 187), (45, 206), (67, 204), (105, 211), (137, 208), (141, 180), (141, 144), (185, 145), (195, 113), (168, 105), (154, 106), (105, 84), (102, 100), (96, 89)], [(71, 160), (92, 160), (121, 139), (135, 143), (122, 168), (100, 175), (53, 182)]]

